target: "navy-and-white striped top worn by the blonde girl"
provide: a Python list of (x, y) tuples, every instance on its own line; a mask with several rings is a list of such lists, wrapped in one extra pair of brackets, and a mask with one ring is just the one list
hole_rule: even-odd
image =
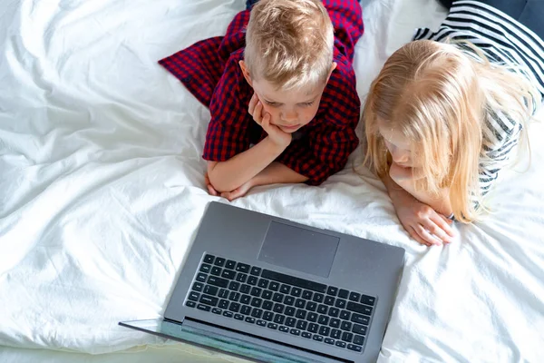
[[(543, 19), (544, 21), (544, 19)], [(491, 64), (512, 66), (512, 72), (526, 77), (539, 94), (533, 99), (536, 108), (544, 99), (544, 42), (524, 25), (490, 5), (478, 1), (454, 1), (450, 13), (438, 31), (427, 28), (416, 31), (413, 40), (437, 42), (466, 40), (481, 49)], [(458, 44), (466, 54), (476, 57), (466, 45)], [(485, 195), (492, 182), (510, 160), (510, 153), (519, 141), (522, 125), (508, 115), (490, 112), (483, 130), (483, 150), (480, 162), (481, 194)]]

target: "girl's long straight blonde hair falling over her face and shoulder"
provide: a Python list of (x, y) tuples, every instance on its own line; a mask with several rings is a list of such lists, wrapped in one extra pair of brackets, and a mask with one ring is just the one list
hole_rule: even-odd
[[(482, 208), (479, 163), (484, 123), (500, 110), (524, 123), (532, 113), (530, 83), (505, 66), (491, 65), (453, 44), (429, 40), (405, 44), (384, 64), (364, 104), (367, 150), (364, 164), (378, 175), (389, 172), (388, 152), (378, 122), (401, 132), (412, 145), (412, 160), (424, 177), (416, 188), (435, 195), (450, 189), (458, 221), (474, 221)], [(525, 130), (525, 128), (524, 128)]]

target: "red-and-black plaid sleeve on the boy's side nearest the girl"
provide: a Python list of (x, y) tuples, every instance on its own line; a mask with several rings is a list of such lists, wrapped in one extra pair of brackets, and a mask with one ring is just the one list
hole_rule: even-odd
[(341, 171), (359, 144), (355, 128), (361, 101), (355, 89), (355, 72), (344, 55), (336, 55), (338, 66), (327, 83), (316, 118), (306, 125), (306, 135), (291, 142), (277, 158), (277, 162), (309, 178), (309, 185), (319, 185)]

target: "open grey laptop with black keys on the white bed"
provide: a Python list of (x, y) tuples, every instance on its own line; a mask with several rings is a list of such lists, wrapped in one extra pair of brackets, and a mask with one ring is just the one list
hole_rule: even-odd
[(210, 202), (163, 319), (119, 324), (257, 362), (375, 362), (404, 250)]

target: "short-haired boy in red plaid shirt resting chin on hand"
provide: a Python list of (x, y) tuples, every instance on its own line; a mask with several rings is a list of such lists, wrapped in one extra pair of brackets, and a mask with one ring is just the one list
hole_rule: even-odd
[(344, 168), (358, 144), (352, 61), (362, 34), (355, 0), (260, 0), (225, 36), (160, 61), (209, 106), (210, 194), (232, 201), (257, 185), (319, 185)]

